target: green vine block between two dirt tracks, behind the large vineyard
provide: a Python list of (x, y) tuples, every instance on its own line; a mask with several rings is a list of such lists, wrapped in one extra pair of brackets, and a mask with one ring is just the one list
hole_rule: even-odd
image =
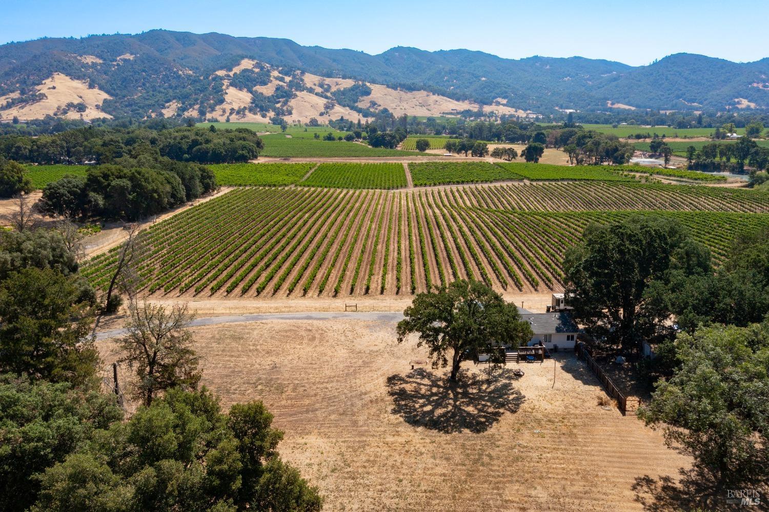
[(299, 185), (326, 188), (404, 188), (406, 172), (402, 164), (345, 164), (318, 165), (315, 171)]

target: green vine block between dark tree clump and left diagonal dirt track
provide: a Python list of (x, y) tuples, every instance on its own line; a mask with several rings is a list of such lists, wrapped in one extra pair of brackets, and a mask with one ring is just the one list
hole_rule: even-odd
[(292, 185), (304, 178), (315, 164), (215, 164), (217, 185)]

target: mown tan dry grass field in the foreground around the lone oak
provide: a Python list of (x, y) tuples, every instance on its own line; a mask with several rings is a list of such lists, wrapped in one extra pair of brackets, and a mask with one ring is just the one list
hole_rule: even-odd
[[(638, 480), (687, 459), (661, 434), (598, 406), (573, 354), (464, 384), (418, 368), (391, 321), (264, 321), (195, 327), (204, 383), (222, 406), (262, 400), (281, 455), (325, 510), (642, 510)], [(105, 367), (112, 344), (99, 342)], [(652, 480), (652, 481), (654, 481)], [(640, 496), (641, 499), (648, 497)]]

